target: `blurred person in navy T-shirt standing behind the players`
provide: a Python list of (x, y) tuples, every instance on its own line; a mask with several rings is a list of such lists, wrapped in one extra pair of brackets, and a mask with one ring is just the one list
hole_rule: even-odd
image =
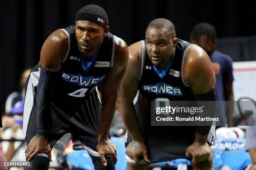
[(217, 45), (217, 33), (214, 26), (210, 25), (209, 23), (198, 23), (195, 25), (190, 33), (190, 42), (202, 47), (212, 61), (212, 67), (216, 78), (215, 95), (217, 100), (230, 101), (228, 102), (228, 105), (225, 105), (223, 102), (221, 103), (221, 107), (216, 108), (216, 117), (220, 118), (220, 121), (216, 122), (216, 127), (223, 127), (227, 124), (228, 126), (232, 126), (234, 101), (233, 61), (230, 56), (215, 50)]

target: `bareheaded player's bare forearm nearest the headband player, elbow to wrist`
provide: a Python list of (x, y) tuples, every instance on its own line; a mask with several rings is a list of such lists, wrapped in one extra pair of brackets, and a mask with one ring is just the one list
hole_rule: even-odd
[(133, 140), (144, 142), (133, 101), (125, 100), (124, 98), (120, 99), (118, 111)]

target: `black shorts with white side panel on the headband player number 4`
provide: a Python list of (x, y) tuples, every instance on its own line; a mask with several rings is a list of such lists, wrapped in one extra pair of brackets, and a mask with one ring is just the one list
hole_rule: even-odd
[[(27, 80), (23, 113), (23, 133), (26, 144), (36, 135), (36, 86), (40, 70), (32, 70)], [(77, 97), (74, 97), (77, 98)], [(64, 134), (71, 133), (74, 150), (86, 149), (93, 156), (97, 153), (100, 130), (101, 101), (97, 87), (86, 100), (51, 99), (49, 102), (48, 141), (51, 148)]]

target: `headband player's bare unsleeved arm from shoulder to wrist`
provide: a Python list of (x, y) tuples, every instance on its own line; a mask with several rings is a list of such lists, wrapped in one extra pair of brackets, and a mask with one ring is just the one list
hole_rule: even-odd
[(117, 37), (115, 40), (114, 65), (108, 74), (104, 87), (99, 143), (108, 139), (108, 133), (115, 115), (118, 90), (127, 64), (128, 47), (123, 40)]

